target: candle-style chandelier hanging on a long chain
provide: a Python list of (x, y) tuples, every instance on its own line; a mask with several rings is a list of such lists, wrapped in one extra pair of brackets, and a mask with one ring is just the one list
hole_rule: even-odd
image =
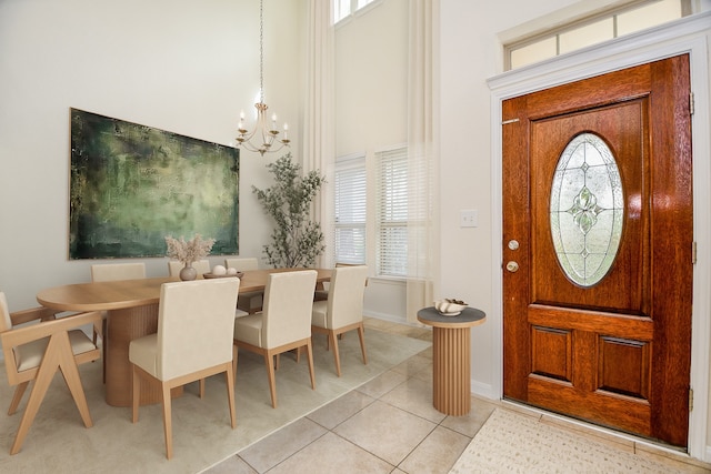
[(289, 147), (289, 125), (284, 123), (284, 135), (279, 138), (277, 130), (277, 114), (271, 115), (271, 122), (267, 123), (267, 104), (264, 103), (264, 9), (263, 1), (259, 2), (259, 102), (257, 109), (257, 123), (252, 131), (244, 125), (244, 111), (240, 112), (240, 123), (237, 127), (237, 148), (249, 151), (258, 151), (262, 157), (268, 151), (279, 151)]

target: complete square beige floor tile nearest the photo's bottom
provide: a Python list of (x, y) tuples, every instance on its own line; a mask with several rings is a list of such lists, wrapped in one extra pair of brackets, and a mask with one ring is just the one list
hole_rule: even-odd
[(377, 401), (338, 425), (333, 432), (397, 466), (435, 426)]

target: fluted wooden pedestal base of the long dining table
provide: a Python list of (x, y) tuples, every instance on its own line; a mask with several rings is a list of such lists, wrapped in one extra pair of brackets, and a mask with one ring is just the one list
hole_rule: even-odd
[[(158, 331), (158, 304), (127, 307), (108, 312), (108, 337), (106, 352), (107, 403), (112, 406), (131, 406), (131, 363), (129, 345), (132, 340)], [(173, 396), (182, 387), (173, 389)], [(160, 403), (161, 385), (141, 380), (141, 405)]]

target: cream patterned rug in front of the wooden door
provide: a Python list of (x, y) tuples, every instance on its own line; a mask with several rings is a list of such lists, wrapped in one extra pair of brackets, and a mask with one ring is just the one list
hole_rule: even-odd
[(450, 474), (674, 472), (668, 465), (541, 423), (532, 416), (497, 409)]

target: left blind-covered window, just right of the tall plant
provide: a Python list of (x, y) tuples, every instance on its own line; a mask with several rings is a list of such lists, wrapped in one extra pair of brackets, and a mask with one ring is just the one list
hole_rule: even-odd
[(365, 157), (338, 159), (334, 170), (334, 252), (340, 263), (365, 263)]

